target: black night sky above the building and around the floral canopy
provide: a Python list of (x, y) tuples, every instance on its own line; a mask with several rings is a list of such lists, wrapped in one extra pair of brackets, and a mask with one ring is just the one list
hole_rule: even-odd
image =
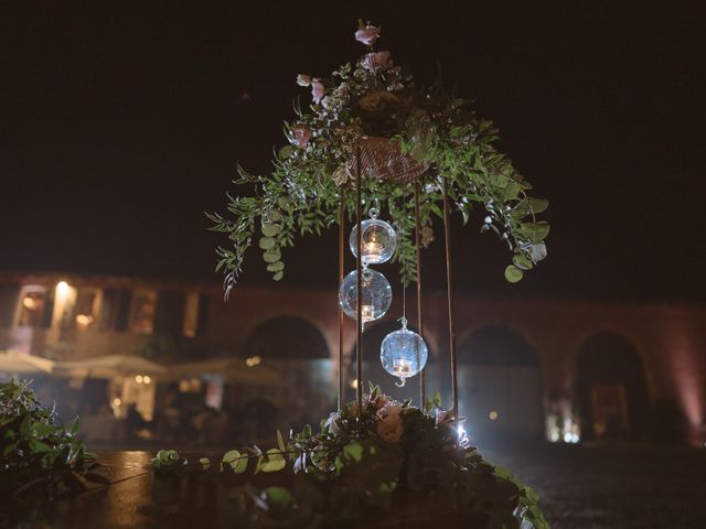
[[(2, 2), (0, 269), (217, 280), (203, 212), (224, 210), (237, 161), (267, 171), (293, 98), (308, 101), (296, 74), (362, 53), (363, 17), (421, 80), (438, 60), (552, 203), (549, 258), (517, 285), (502, 279), (503, 245), (459, 226), (461, 289), (706, 301), (696, 7), (188, 3)], [(236, 105), (244, 91), (250, 101)], [(330, 234), (290, 250), (284, 284), (334, 284), (335, 248)], [(441, 249), (425, 257), (431, 285)], [(257, 253), (245, 282), (267, 280)]]

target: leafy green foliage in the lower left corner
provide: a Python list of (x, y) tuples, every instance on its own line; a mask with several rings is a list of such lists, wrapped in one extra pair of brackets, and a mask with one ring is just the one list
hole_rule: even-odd
[(107, 484), (94, 472), (95, 455), (78, 438), (78, 419), (67, 430), (43, 407), (28, 381), (0, 382), (0, 506), (51, 501), (84, 490), (85, 481)]

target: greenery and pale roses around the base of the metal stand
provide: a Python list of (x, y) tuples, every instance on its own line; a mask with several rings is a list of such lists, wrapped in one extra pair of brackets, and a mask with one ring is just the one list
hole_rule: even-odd
[(360, 414), (351, 402), (322, 420), (319, 433), (306, 427), (285, 443), (277, 432), (277, 447), (231, 450), (197, 464), (160, 451), (152, 467), (200, 478), (289, 471), (277, 485), (222, 495), (220, 518), (228, 527), (549, 527), (534, 490), (483, 460), (438, 392), (419, 409), (371, 385)]

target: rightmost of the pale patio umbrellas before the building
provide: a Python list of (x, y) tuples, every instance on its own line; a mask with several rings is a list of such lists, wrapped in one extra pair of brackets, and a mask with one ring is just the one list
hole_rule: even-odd
[(174, 379), (197, 377), (200, 375), (220, 375), (227, 382), (250, 386), (286, 386), (284, 377), (271, 367), (258, 365), (248, 367), (240, 358), (214, 358), (203, 361), (175, 364), (169, 369)]

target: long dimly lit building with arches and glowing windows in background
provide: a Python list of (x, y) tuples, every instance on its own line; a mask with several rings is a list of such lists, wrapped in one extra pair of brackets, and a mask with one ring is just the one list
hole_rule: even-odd
[[(239, 398), (276, 398), (287, 417), (312, 421), (335, 403), (336, 303), (334, 289), (238, 285), (225, 303), (217, 283), (0, 272), (0, 350), (62, 360), (132, 355), (163, 366), (208, 358), (247, 367), (261, 363), (278, 369), (287, 384), (276, 390), (243, 389)], [(413, 307), (407, 315), (413, 324), (415, 314)], [(399, 316), (396, 302), (383, 320), (366, 326), (364, 380), (418, 401), (417, 378), (396, 388), (378, 361), (379, 343), (398, 328)], [(431, 355), (427, 391), (439, 389), (448, 402), (441, 293), (426, 294), (424, 323)], [(350, 320), (344, 331), (345, 397), (352, 399), (355, 332)], [(458, 299), (457, 338), (460, 411), (471, 436), (546, 434), (575, 442), (579, 435), (668, 441), (683, 434), (693, 444), (706, 441), (704, 304)], [(106, 398), (125, 396), (132, 391), (125, 385), (137, 384), (147, 391), (145, 415), (159, 401), (160, 385), (189, 390), (193, 381), (133, 379), (113, 380)], [(221, 406), (223, 396), (211, 400)]]

